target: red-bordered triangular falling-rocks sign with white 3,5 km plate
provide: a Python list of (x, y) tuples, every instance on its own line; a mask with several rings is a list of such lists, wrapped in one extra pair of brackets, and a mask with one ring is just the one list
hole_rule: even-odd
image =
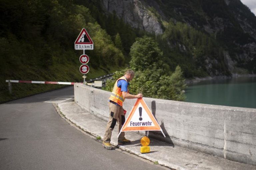
[(93, 49), (93, 41), (85, 28), (82, 29), (75, 41), (75, 49)]

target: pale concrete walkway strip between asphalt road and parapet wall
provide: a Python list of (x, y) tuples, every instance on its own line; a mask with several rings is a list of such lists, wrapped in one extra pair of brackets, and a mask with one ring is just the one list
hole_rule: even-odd
[[(98, 119), (86, 110), (82, 109), (75, 102), (58, 103), (60, 111), (67, 119), (80, 126), (85, 131), (94, 136), (103, 138), (106, 122)], [(158, 161), (159, 164), (174, 168), (177, 170), (255, 170), (256, 166), (244, 163), (234, 162), (224, 158), (204, 154), (183, 147), (173, 147), (170, 143), (150, 138), (150, 153), (140, 153), (141, 135), (135, 132), (125, 132), (126, 138), (132, 141), (130, 145), (117, 145), (117, 126), (114, 128), (111, 143), (136, 154), (142, 158), (146, 158), (153, 162)], [(104, 149), (102, 147), (102, 149)], [(111, 152), (111, 151), (109, 151)]]

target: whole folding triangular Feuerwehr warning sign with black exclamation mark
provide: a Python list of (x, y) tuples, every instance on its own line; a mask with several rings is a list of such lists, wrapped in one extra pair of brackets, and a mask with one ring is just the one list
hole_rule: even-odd
[(137, 99), (127, 120), (125, 121), (123, 127), (121, 128), (120, 133), (122, 131), (140, 131), (140, 130), (159, 130), (163, 133), (163, 130), (157, 123), (155, 117), (149, 110), (143, 98)]

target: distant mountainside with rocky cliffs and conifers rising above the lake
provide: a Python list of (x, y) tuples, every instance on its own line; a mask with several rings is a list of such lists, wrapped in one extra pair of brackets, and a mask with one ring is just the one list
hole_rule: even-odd
[(256, 72), (256, 17), (240, 0), (92, 0), (157, 36), (186, 77)]

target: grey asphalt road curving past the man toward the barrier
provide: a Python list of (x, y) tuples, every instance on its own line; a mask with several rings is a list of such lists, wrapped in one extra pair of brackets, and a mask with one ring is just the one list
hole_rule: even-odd
[(56, 112), (56, 98), (73, 98), (73, 86), (0, 105), (0, 170), (161, 169), (102, 144)]

